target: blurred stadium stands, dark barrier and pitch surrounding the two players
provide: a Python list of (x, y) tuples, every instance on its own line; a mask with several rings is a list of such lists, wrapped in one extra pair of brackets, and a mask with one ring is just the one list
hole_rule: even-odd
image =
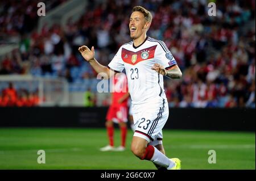
[[(39, 2), (46, 16), (38, 16)], [(255, 169), (254, 0), (0, 1), (0, 169), (154, 169), (129, 149), (98, 151), (111, 96), (97, 92), (100, 80), (77, 51), (94, 46), (108, 65), (130, 41), (136, 5), (152, 12), (147, 35), (166, 43), (183, 72), (164, 80), (167, 155), (184, 169)], [(36, 161), (41, 149), (44, 165)]]

